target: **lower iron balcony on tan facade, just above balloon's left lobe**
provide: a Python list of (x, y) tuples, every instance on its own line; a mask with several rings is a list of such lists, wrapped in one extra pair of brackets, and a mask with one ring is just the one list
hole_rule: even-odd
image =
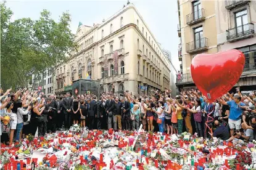
[(189, 54), (193, 52), (204, 51), (205, 49), (208, 49), (208, 38), (201, 38), (186, 44), (186, 52)]

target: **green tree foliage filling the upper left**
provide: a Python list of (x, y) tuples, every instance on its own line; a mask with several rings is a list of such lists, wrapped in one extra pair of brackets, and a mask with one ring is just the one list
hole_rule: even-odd
[(41, 12), (38, 20), (21, 18), (10, 22), (12, 14), (1, 4), (1, 84), (4, 88), (27, 86), (32, 74), (39, 75), (65, 61), (76, 47), (67, 12), (58, 22), (47, 10)]

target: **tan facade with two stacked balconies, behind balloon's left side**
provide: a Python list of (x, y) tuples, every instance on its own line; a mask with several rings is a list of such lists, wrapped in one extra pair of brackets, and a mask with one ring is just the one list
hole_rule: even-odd
[(214, 54), (218, 51), (214, 6), (215, 1), (178, 1), (178, 54), (182, 77), (177, 79), (176, 85), (180, 91), (195, 87), (190, 70), (193, 57), (200, 53)]

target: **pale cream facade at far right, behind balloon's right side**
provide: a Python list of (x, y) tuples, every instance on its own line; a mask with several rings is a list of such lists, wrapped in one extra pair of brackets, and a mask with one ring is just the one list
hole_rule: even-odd
[(246, 57), (236, 86), (247, 94), (256, 89), (256, 1), (217, 1), (215, 10), (218, 51), (238, 49)]

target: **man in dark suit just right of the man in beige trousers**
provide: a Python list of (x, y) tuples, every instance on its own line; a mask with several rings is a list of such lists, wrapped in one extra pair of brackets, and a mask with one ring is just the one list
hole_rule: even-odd
[(122, 102), (122, 122), (123, 122), (123, 129), (126, 130), (131, 130), (130, 126), (130, 110), (131, 110), (131, 105), (128, 101), (125, 101), (124, 97), (120, 97), (120, 102)]

